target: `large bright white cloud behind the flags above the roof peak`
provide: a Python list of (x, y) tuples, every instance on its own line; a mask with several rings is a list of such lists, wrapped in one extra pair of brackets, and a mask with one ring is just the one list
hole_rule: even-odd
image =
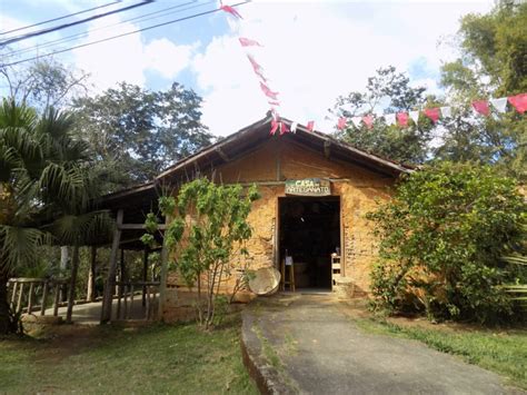
[[(488, 1), (256, 2), (239, 8), (239, 33), (265, 45), (255, 49), (255, 57), (271, 78), (271, 88), (280, 92), (281, 113), (301, 124), (315, 119), (328, 128), (334, 122), (325, 117), (337, 96), (364, 89), (379, 67), (394, 65), (406, 71), (422, 58), (437, 73), (441, 60), (453, 57), (453, 49), (438, 47), (438, 40), (456, 32), (461, 14), (489, 7)], [(205, 90), (203, 120), (220, 135), (249, 125), (268, 109), (237, 33), (216, 37), (193, 62)], [(439, 91), (429, 76), (412, 82)]]

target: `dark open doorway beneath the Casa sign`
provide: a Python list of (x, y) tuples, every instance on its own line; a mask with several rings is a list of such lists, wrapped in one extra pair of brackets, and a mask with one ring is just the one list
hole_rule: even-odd
[(297, 288), (331, 288), (331, 254), (340, 249), (339, 197), (279, 198), (280, 264), (292, 256)]

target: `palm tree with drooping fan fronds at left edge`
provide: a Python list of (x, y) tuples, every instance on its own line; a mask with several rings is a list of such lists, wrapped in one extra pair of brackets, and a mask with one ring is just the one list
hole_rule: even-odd
[(52, 108), (39, 118), (12, 100), (0, 106), (0, 334), (13, 328), (7, 280), (52, 238), (42, 225), (89, 207), (89, 158), (71, 127), (71, 118)]

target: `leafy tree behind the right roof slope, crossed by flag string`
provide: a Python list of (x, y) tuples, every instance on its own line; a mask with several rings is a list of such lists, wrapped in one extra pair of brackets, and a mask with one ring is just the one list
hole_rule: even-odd
[[(411, 88), (409, 78), (390, 66), (377, 70), (374, 77), (368, 78), (366, 91), (339, 97), (331, 112), (348, 119), (379, 109), (385, 113), (407, 112), (427, 102), (425, 90), (425, 88)], [(371, 129), (365, 125), (360, 129), (347, 125), (346, 129), (337, 131), (336, 136), (359, 149), (379, 156), (402, 162), (420, 164), (427, 158), (428, 142), (432, 138), (431, 129), (431, 122), (421, 117), (419, 127), (411, 121), (408, 128), (376, 121)]]

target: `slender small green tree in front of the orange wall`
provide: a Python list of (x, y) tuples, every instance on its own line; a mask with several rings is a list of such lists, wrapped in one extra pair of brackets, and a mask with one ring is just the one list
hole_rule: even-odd
[[(240, 185), (222, 186), (199, 178), (183, 185), (177, 199), (159, 200), (162, 215), (172, 218), (163, 243), (178, 274), (189, 287), (197, 287), (198, 323), (206, 328), (215, 323), (220, 286), (249, 254), (243, 247), (251, 237), (247, 217), (258, 198), (256, 186), (243, 190)], [(151, 244), (156, 215), (147, 217), (146, 229), (149, 234), (142, 240)]]

